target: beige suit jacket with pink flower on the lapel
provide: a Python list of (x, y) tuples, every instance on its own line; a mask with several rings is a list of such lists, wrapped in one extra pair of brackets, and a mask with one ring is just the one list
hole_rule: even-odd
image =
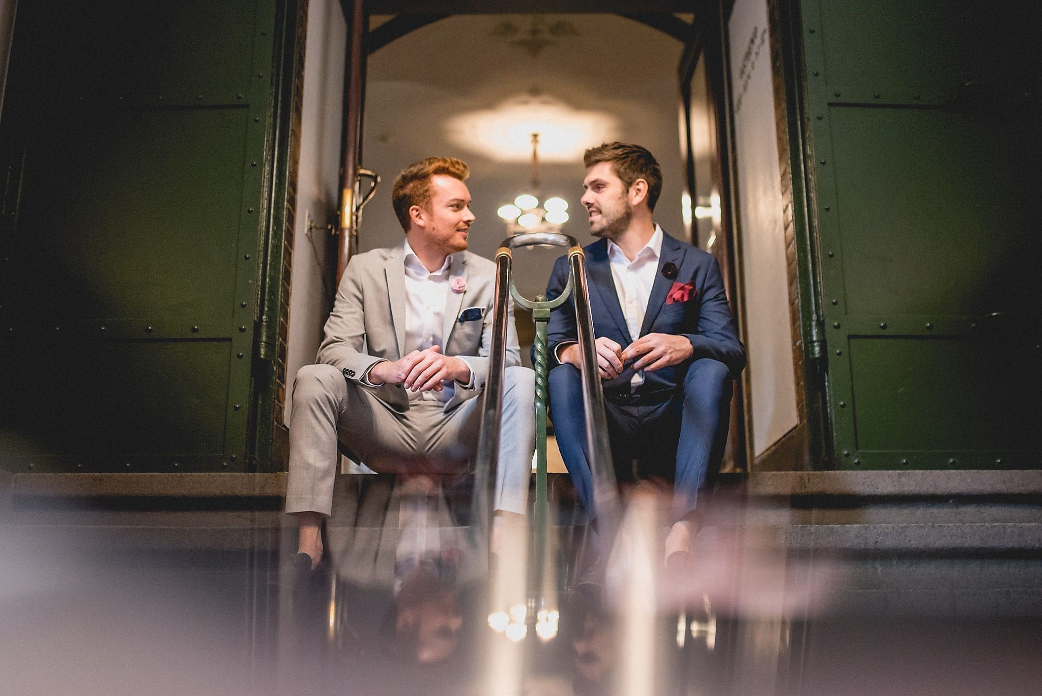
[[(452, 255), (449, 282), (462, 278), (463, 293), (446, 293), (445, 322), (442, 336), (445, 355), (464, 356), (470, 364), (473, 388), (455, 386), (448, 411), (480, 393), (489, 376), (492, 349), (492, 304), (496, 284), (496, 265), (470, 251)], [(461, 322), (465, 309), (481, 308), (481, 318)], [(373, 249), (351, 258), (344, 270), (332, 313), (325, 323), (325, 338), (316, 362), (332, 365), (348, 380), (361, 381), (377, 361), (398, 360), (405, 341), (405, 245)], [(506, 319), (505, 364), (521, 364), (514, 305)], [(408, 394), (401, 385), (366, 387), (377, 399), (399, 412), (408, 410)]]

